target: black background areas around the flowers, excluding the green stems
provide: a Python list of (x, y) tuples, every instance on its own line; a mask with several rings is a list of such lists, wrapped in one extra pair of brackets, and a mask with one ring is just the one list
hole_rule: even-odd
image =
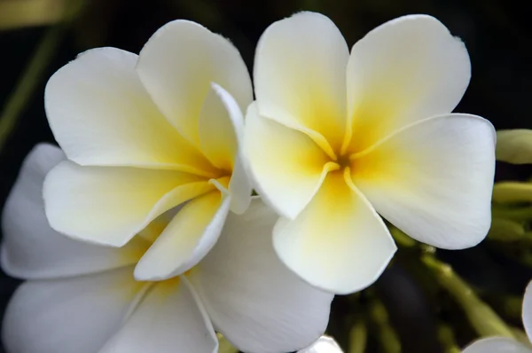
[[(5, 1), (5, 0), (4, 0)], [(24, 2), (25, 0), (10, 0)], [(3, 0), (0, 0), (0, 6)], [(58, 2), (60, 3), (60, 1)], [(43, 109), (43, 87), (59, 67), (86, 49), (113, 46), (138, 52), (153, 32), (169, 20), (200, 22), (223, 34), (239, 48), (248, 67), (253, 64), (254, 45), (262, 31), (275, 21), (301, 10), (322, 12), (345, 35), (349, 46), (379, 24), (411, 13), (427, 13), (441, 20), (451, 33), (465, 42), (473, 66), (473, 78), (459, 112), (479, 114), (497, 129), (532, 128), (530, 83), (532, 82), (532, 27), (525, 2), (503, 0), (109, 0), (91, 1), (68, 27), (58, 49), (46, 65), (43, 80), (24, 104), (16, 126), (0, 150), (0, 206), (12, 187), (20, 163), (37, 143), (53, 142)], [(0, 7), (0, 12), (1, 12)], [(0, 107), (31, 59), (36, 45), (51, 26), (18, 27), (0, 31)], [(3, 117), (0, 117), (3, 119)], [(497, 167), (497, 177), (520, 177), (528, 171)], [(473, 284), (496, 294), (522, 293), (532, 274), (494, 254), (486, 246), (442, 253), (445, 261)], [(0, 279), (0, 314), (17, 286), (4, 274)], [(403, 341), (403, 352), (438, 352), (434, 318), (439, 315), (400, 265), (379, 279), (376, 290), (387, 305), (392, 322)], [(351, 315), (348, 298), (335, 301), (332, 331)], [(356, 315), (356, 313), (353, 313)], [(463, 320), (457, 314), (457, 320)], [(452, 321), (452, 320), (451, 320)], [(519, 323), (518, 323), (519, 324)], [(466, 330), (466, 329), (465, 329)], [(342, 333), (339, 333), (341, 336)], [(458, 337), (461, 344), (473, 336)], [(340, 341), (345, 341), (341, 339)], [(373, 341), (373, 342), (372, 342)], [(374, 338), (368, 352), (378, 352)], [(0, 348), (0, 352), (3, 351)], [(73, 352), (74, 353), (74, 352)]]

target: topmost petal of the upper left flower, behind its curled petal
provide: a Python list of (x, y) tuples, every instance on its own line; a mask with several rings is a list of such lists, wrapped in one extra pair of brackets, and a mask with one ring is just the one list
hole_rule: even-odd
[(200, 146), (199, 119), (211, 82), (244, 111), (253, 100), (239, 51), (223, 36), (188, 20), (169, 22), (140, 51), (137, 73), (168, 121)]

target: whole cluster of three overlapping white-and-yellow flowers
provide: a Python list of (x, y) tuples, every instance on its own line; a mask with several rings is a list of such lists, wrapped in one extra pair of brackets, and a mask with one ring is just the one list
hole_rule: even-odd
[(441, 22), (391, 20), (349, 52), (331, 20), (297, 13), (266, 29), (253, 74), (176, 20), (138, 56), (94, 49), (51, 77), (60, 149), (27, 156), (3, 214), (2, 267), (28, 280), (10, 352), (210, 353), (216, 333), (304, 349), (333, 295), (395, 254), (381, 216), (434, 247), (484, 239), (496, 137), (451, 114), (471, 67)]

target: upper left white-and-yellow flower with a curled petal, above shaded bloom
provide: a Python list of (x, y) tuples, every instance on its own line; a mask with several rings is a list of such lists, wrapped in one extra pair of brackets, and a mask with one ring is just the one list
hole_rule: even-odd
[(66, 153), (43, 188), (51, 227), (121, 247), (188, 201), (135, 269), (138, 279), (184, 273), (213, 247), (251, 184), (240, 164), (242, 111), (253, 99), (239, 51), (207, 28), (176, 20), (137, 57), (86, 51), (48, 82), (44, 103)]

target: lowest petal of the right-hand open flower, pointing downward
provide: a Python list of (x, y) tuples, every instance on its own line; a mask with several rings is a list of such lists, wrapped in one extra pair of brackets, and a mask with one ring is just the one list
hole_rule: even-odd
[(364, 289), (395, 254), (386, 225), (340, 171), (333, 172), (297, 218), (280, 218), (273, 245), (286, 266), (335, 294)]

